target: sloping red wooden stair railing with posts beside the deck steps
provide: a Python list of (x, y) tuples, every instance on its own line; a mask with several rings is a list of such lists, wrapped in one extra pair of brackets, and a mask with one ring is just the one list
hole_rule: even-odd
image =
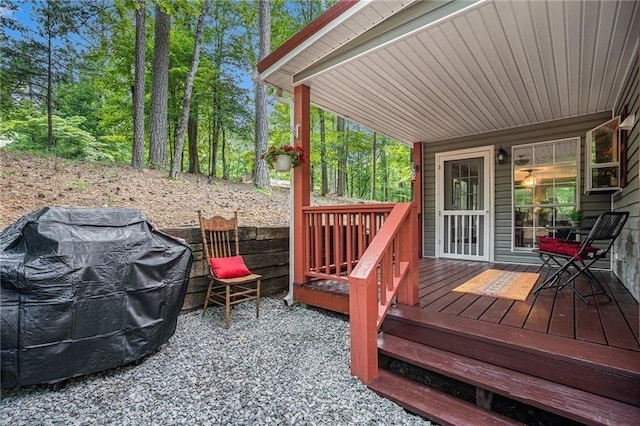
[(398, 203), (349, 275), (351, 374), (378, 376), (377, 335), (392, 302), (418, 303), (417, 209)]

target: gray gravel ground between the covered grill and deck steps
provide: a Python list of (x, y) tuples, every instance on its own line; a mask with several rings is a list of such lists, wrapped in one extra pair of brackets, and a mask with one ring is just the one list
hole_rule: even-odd
[(264, 298), (183, 315), (137, 366), (77, 378), (61, 390), (5, 390), (2, 425), (429, 425), (349, 372), (340, 316)]

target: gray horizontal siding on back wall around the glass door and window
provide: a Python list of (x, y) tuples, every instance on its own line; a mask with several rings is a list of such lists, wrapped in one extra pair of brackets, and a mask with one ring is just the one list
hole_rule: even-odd
[[(523, 126), (498, 132), (450, 139), (423, 145), (423, 254), (436, 255), (436, 199), (435, 180), (437, 153), (493, 145), (500, 146), (509, 153), (507, 164), (495, 164), (494, 200), (494, 260), (510, 263), (538, 263), (537, 256), (529, 252), (514, 252), (512, 238), (512, 184), (511, 184), (511, 147), (521, 144), (552, 141), (571, 137), (580, 137), (580, 207), (585, 214), (599, 214), (611, 210), (611, 194), (584, 194), (584, 141), (586, 132), (611, 119), (611, 111), (572, 117), (531, 126)], [(607, 265), (604, 265), (605, 267)]]

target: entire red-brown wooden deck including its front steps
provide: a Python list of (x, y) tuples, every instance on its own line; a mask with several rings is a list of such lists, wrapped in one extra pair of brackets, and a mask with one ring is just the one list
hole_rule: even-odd
[[(524, 302), (452, 291), (489, 268), (536, 272), (538, 266), (421, 259), (419, 306), (392, 307), (378, 338), (379, 354), (472, 386), (475, 401), (452, 400), (417, 377), (386, 370), (369, 387), (439, 424), (527, 422), (487, 410), (494, 394), (558, 415), (558, 424), (635, 424), (639, 310), (617, 278), (597, 271), (612, 300), (590, 297), (588, 305), (569, 288), (531, 293)], [(582, 278), (576, 287), (590, 293)], [(348, 307), (344, 283), (316, 281), (299, 290), (310, 305), (331, 309), (339, 300), (335, 310)]]

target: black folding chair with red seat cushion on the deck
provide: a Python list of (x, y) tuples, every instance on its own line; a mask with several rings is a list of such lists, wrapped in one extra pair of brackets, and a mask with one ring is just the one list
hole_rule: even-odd
[[(628, 217), (628, 212), (603, 213), (598, 216), (591, 231), (580, 244), (558, 241), (544, 245), (536, 250), (545, 265), (552, 267), (550, 262), (553, 261), (558, 268), (533, 292), (537, 293), (547, 288), (562, 289), (567, 286), (587, 304), (589, 304), (589, 301), (586, 298), (591, 296), (605, 295), (611, 300), (611, 297), (609, 297), (604, 286), (593, 274), (590, 267), (598, 260), (607, 257)], [(601, 248), (596, 247), (595, 244)], [(571, 273), (570, 269), (573, 273)], [(569, 277), (565, 278), (564, 274), (569, 275)], [(581, 274), (597, 289), (597, 292), (585, 295), (578, 291), (574, 285), (574, 280)]]

